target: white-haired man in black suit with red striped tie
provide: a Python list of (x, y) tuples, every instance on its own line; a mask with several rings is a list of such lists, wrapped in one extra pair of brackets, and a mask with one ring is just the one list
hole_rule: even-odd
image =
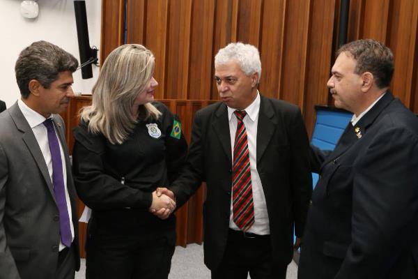
[[(215, 56), (221, 103), (194, 116), (188, 168), (171, 186), (178, 206), (202, 181), (205, 264), (212, 278), (286, 278), (309, 199), (309, 140), (297, 106), (258, 93), (256, 47)], [(298, 244), (296, 244), (297, 246)]]

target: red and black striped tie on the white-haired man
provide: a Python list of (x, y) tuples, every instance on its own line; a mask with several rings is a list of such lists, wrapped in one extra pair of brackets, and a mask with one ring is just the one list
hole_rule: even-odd
[(249, 167), (247, 130), (242, 119), (245, 111), (235, 110), (238, 120), (233, 147), (232, 211), (233, 222), (244, 232), (254, 224), (254, 202)]

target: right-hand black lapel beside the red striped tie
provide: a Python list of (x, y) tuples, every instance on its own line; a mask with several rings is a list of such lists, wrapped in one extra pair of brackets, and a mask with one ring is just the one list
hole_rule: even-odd
[(260, 95), (260, 110), (258, 112), (257, 124), (257, 165), (267, 149), (267, 146), (272, 139), (274, 130), (277, 128), (277, 121), (274, 118), (274, 110), (272, 105)]

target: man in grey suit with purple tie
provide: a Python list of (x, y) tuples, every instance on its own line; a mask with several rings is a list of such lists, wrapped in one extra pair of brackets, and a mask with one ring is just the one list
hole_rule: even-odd
[(59, 112), (78, 62), (39, 41), (15, 65), (21, 100), (0, 114), (0, 278), (70, 279), (79, 269), (76, 193)]

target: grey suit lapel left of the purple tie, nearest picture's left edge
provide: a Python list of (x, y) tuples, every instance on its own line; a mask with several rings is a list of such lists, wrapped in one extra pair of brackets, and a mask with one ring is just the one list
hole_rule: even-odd
[(45, 163), (42, 151), (40, 151), (39, 144), (36, 141), (36, 137), (35, 135), (33, 135), (32, 128), (29, 126), (29, 123), (24, 118), (17, 103), (10, 107), (9, 112), (11, 118), (13, 119), (13, 122), (15, 122), (17, 130), (20, 130), (20, 132), (22, 132), (22, 140), (26, 144), (26, 147), (28, 148), (29, 152), (31, 153), (33, 160), (35, 160), (36, 165), (38, 165), (40, 173), (42, 174), (43, 178), (45, 179), (45, 182), (47, 183), (49, 192), (55, 199), (54, 188), (52, 186), (52, 181), (49, 176), (47, 164)]

